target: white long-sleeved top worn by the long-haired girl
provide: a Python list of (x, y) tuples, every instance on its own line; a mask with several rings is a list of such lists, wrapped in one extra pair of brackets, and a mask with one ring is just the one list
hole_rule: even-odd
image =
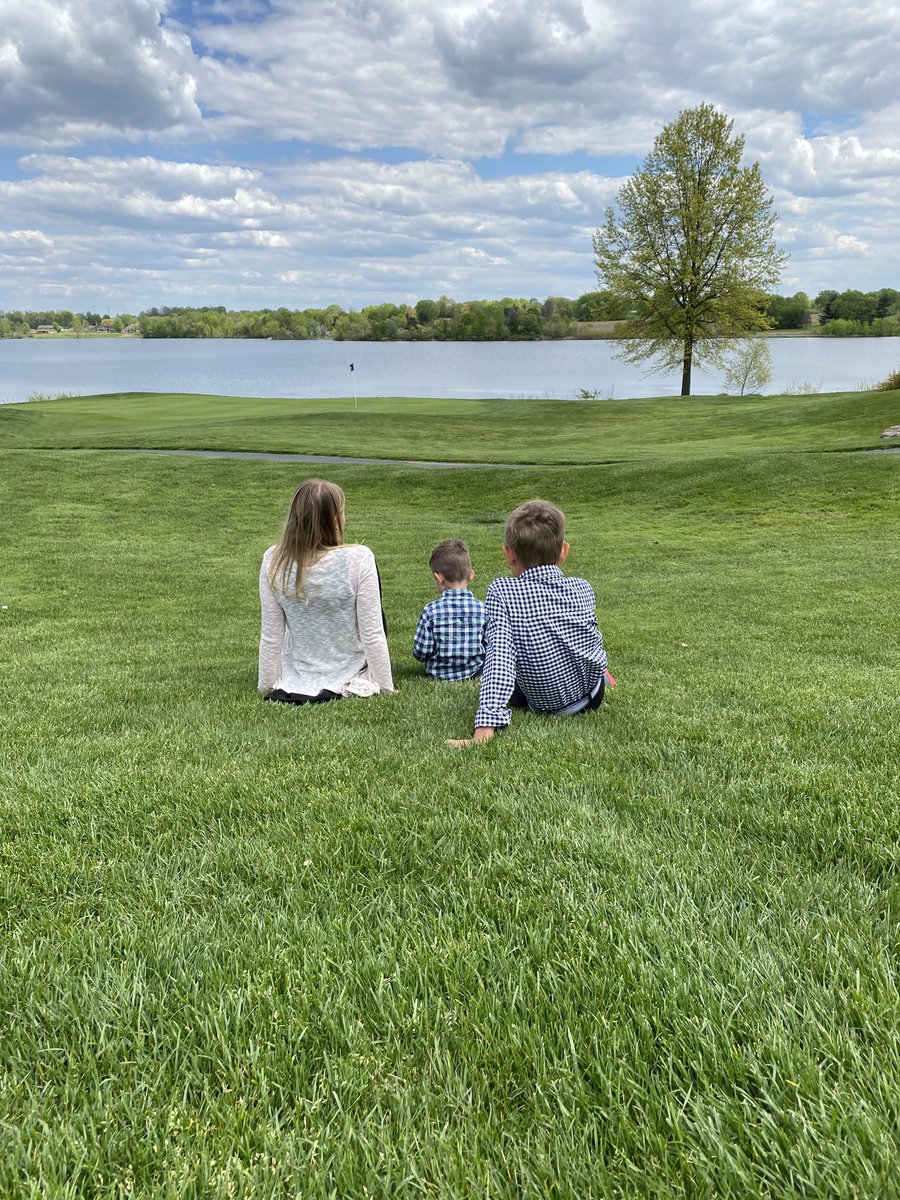
[(283, 592), (269, 578), (270, 546), (259, 571), (262, 632), (259, 690), (304, 696), (394, 691), (374, 554), (367, 546), (336, 546), (306, 569), (302, 596), (293, 572)]

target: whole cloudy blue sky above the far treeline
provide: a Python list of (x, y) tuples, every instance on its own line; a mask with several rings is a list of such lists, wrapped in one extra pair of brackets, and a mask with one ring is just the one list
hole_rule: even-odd
[(0, 310), (578, 296), (679, 112), (900, 288), (900, 0), (0, 0)]

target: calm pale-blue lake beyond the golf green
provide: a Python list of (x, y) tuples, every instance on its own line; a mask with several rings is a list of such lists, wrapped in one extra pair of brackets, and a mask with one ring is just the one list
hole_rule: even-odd
[[(769, 392), (852, 391), (900, 367), (895, 337), (774, 337)], [(674, 396), (680, 376), (644, 376), (612, 342), (0, 341), (0, 403), (31, 392), (187, 391), (223, 396), (431, 396), (571, 400)], [(354, 364), (354, 371), (350, 371)], [(696, 395), (724, 390), (694, 372)]]

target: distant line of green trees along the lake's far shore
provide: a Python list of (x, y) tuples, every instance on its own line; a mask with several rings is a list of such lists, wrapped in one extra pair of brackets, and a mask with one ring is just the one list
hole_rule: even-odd
[[(10, 337), (246, 337), (272, 341), (332, 338), (353, 342), (494, 342), (614, 338), (631, 316), (611, 292), (586, 292), (575, 300), (438, 300), (368, 305), (346, 311), (162, 306), (109, 316), (68, 310), (0, 312), (0, 338)], [(769, 295), (764, 319), (774, 336), (896, 337), (900, 292), (824, 290)]]

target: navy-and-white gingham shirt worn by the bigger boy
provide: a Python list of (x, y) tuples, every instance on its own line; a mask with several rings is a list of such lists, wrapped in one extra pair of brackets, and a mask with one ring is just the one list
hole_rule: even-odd
[(475, 728), (509, 725), (514, 688), (528, 707), (554, 713), (587, 698), (606, 670), (594, 590), (558, 566), (494, 580), (485, 600), (487, 658)]

